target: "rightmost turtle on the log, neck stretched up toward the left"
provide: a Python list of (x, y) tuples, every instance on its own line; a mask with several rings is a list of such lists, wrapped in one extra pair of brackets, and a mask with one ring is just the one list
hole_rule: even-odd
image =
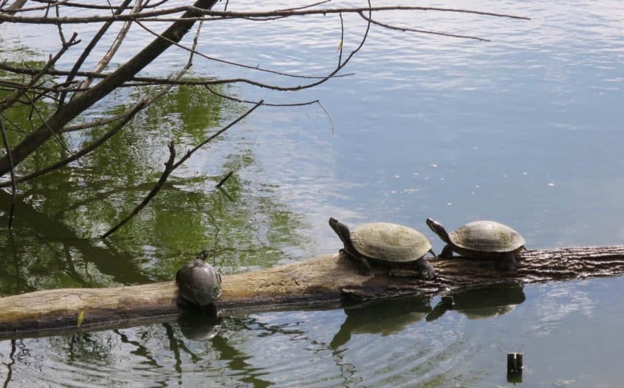
[(526, 241), (520, 233), (496, 221), (469, 222), (450, 233), (431, 218), (427, 218), (426, 223), (447, 243), (439, 258), (452, 258), (454, 251), (469, 258), (495, 260), (501, 269), (515, 270), (516, 254), (526, 249)]

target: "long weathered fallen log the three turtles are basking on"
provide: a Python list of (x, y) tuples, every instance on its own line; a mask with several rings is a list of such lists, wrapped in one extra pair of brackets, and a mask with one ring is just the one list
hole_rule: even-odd
[[(243, 274), (223, 276), (222, 314), (334, 305), (348, 298), (376, 299), (405, 294), (433, 296), (456, 288), (496, 283), (519, 285), (624, 273), (624, 246), (525, 251), (517, 271), (501, 272), (487, 261), (466, 258), (431, 260), (438, 276), (363, 275), (345, 256), (327, 255)], [(177, 315), (173, 281), (118, 288), (71, 288), (0, 298), (0, 336), (42, 330), (79, 330), (128, 326), (137, 319)]]

